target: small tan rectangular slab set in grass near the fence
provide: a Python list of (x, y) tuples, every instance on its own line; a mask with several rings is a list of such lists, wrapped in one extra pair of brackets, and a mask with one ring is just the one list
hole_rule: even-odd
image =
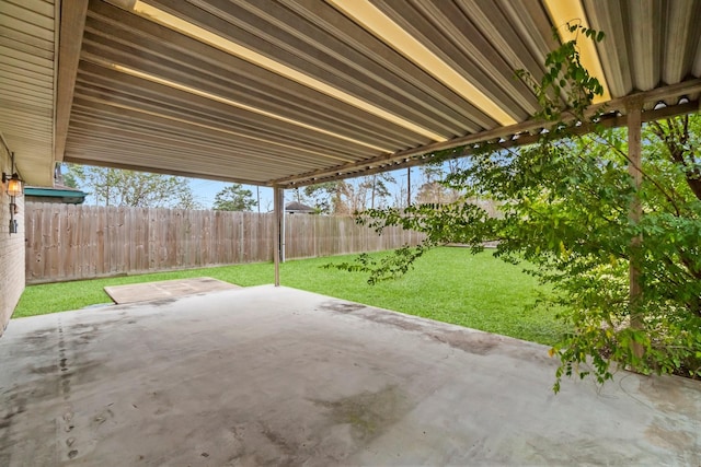
[(234, 290), (241, 289), (241, 287), (220, 281), (219, 279), (203, 277), (134, 283), (128, 285), (111, 285), (105, 287), (104, 289), (114, 303), (125, 304), (196, 295), (198, 293), (217, 292), (220, 290)]

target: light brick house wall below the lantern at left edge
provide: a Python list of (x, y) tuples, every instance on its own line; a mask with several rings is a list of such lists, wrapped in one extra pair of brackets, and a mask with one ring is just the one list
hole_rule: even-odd
[[(0, 145), (0, 170), (10, 173), (10, 156)], [(24, 197), (15, 198), (18, 233), (10, 233), (10, 197), (0, 188), (0, 336), (24, 291)]]

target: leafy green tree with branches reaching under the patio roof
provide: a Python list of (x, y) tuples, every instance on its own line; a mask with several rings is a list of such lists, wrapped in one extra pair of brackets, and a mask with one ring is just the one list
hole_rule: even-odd
[[(570, 27), (602, 39), (593, 30)], [(572, 329), (551, 350), (561, 360), (555, 392), (565, 375), (594, 375), (602, 384), (613, 362), (644, 373), (701, 376), (701, 117), (643, 127), (637, 186), (629, 175), (627, 130), (602, 128), (600, 114), (589, 110), (602, 89), (581, 65), (576, 42), (551, 52), (545, 68), (538, 82), (519, 74), (542, 106), (538, 117), (545, 131), (537, 143), (485, 143), (438, 154), (470, 154), (467, 167), (440, 180), (460, 199), (359, 218), (378, 230), (399, 224), (425, 232), (426, 242), (342, 268), (368, 271), (374, 283), (407, 271), (432, 246), (456, 242), (479, 252), (485, 242), (498, 242), (497, 257), (524, 264), (553, 287), (541, 305), (558, 310)], [(471, 199), (495, 201), (499, 215)], [(642, 207), (640, 221), (631, 217), (634, 206)], [(642, 290), (634, 300), (631, 264)]]

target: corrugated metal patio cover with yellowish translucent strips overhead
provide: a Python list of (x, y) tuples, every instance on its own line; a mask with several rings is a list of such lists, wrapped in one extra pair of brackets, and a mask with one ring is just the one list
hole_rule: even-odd
[(571, 20), (607, 34), (582, 55), (610, 110), (698, 109), (693, 0), (71, 0), (47, 162), (285, 186), (512, 138), (538, 126), (515, 70), (540, 79)]

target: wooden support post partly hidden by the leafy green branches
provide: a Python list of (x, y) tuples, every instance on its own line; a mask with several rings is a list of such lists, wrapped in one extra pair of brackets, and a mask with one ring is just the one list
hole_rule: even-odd
[[(641, 130), (642, 130), (642, 98), (632, 98), (625, 103), (625, 109), (628, 112), (628, 173), (633, 178), (633, 185), (636, 190), (640, 189), (643, 182), (643, 173), (641, 171)], [(637, 194), (633, 199), (630, 208), (630, 219), (634, 224), (637, 224), (643, 217), (643, 207), (640, 202)], [(642, 238), (635, 236), (631, 240), (632, 249), (635, 250), (641, 246)], [(642, 317), (639, 314), (639, 301), (643, 293), (640, 285), (640, 265), (633, 255), (630, 259), (629, 266), (629, 281), (630, 281), (630, 306), (631, 306), (631, 328), (641, 329)], [(643, 355), (643, 347), (633, 342), (633, 353), (641, 358)]]

